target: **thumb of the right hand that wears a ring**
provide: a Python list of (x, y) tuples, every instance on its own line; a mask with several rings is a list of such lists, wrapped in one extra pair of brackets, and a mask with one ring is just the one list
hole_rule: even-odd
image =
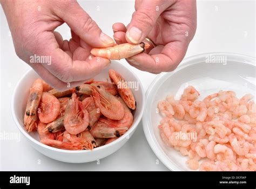
[(160, 14), (170, 5), (170, 0), (136, 1), (137, 10), (132, 15), (125, 35), (127, 42), (133, 44), (142, 42), (156, 24)]

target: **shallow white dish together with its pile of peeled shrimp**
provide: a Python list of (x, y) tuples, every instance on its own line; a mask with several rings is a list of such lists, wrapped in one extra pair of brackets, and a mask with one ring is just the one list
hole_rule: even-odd
[(256, 170), (255, 65), (249, 56), (206, 53), (152, 82), (144, 133), (170, 170)]

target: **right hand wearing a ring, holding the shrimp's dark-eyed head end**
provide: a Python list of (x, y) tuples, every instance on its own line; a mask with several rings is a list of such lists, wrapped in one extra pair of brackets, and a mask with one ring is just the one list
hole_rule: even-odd
[(135, 10), (127, 27), (113, 24), (116, 43), (138, 44), (149, 37), (157, 46), (127, 62), (151, 73), (176, 69), (196, 32), (196, 1), (136, 0)]

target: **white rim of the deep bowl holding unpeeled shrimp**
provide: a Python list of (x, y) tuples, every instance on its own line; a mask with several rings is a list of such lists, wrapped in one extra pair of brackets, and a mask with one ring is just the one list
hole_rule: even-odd
[[(140, 91), (142, 93), (142, 111), (139, 112), (138, 114), (138, 119), (136, 120), (136, 122), (133, 122), (132, 126), (130, 127), (129, 130), (127, 130), (127, 132), (125, 132), (121, 137), (119, 137), (117, 140), (114, 140), (112, 141), (111, 143), (107, 144), (107, 145), (103, 145), (103, 146), (100, 146), (100, 147), (97, 147), (96, 149), (93, 149), (93, 150), (63, 150), (63, 149), (57, 149), (55, 147), (51, 147), (51, 146), (48, 146), (48, 145), (45, 145), (43, 143), (40, 143), (40, 141), (34, 139), (33, 137), (30, 136), (30, 134), (28, 132), (26, 132), (22, 126), (23, 125), (20, 125), (19, 122), (18, 122), (18, 119), (17, 119), (17, 116), (15, 115), (15, 106), (14, 106), (14, 101), (15, 101), (15, 95), (16, 93), (18, 92), (17, 89), (18, 89), (18, 86), (21, 84), (22, 80), (24, 79), (24, 77), (26, 77), (30, 72), (36, 72), (35, 70), (33, 70), (32, 68), (29, 69), (28, 71), (26, 71), (24, 73), (24, 75), (21, 77), (21, 79), (19, 79), (18, 83), (15, 85), (15, 89), (14, 89), (14, 92), (12, 93), (12, 97), (11, 97), (11, 115), (12, 115), (12, 119), (14, 120), (15, 122), (15, 125), (18, 127), (19, 131), (22, 132), (22, 134), (28, 138), (32, 143), (35, 143), (36, 145), (39, 145), (45, 149), (48, 149), (50, 151), (56, 151), (56, 152), (60, 152), (60, 153), (75, 153), (75, 154), (82, 154), (82, 153), (93, 153), (95, 151), (99, 151), (99, 150), (103, 150), (103, 149), (106, 149), (107, 147), (111, 147), (117, 143), (119, 143), (119, 141), (122, 141), (122, 140), (125, 140), (127, 139), (127, 136), (129, 136), (128, 139), (130, 139), (130, 134), (133, 133), (133, 131), (135, 131), (139, 125), (139, 122), (140, 120), (142, 119), (142, 116), (143, 116), (143, 112), (145, 110), (145, 92), (144, 92), (144, 88), (143, 88), (143, 85), (142, 85), (142, 82), (140, 81), (139, 77), (129, 68), (127, 68), (125, 65), (123, 65), (122, 63), (116, 61), (116, 60), (111, 60), (111, 63), (114, 64), (119, 64), (118, 66), (122, 66), (124, 69), (128, 70), (131, 72), (131, 74), (136, 78), (137, 82), (139, 83), (139, 88), (140, 88)], [(106, 68), (107, 69), (107, 68)], [(100, 74), (100, 73), (99, 73)], [(40, 76), (39, 76), (40, 77)]]

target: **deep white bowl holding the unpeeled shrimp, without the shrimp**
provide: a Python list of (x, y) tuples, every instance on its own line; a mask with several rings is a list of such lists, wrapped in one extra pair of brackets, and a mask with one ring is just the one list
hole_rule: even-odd
[(14, 119), (14, 122), (17, 125), (19, 131), (21, 131), (21, 133), (26, 137), (26, 139), (28, 139), (29, 143), (37, 151), (52, 159), (68, 163), (85, 163), (89, 161), (95, 161), (116, 152), (126, 143), (127, 140), (129, 140), (133, 132), (136, 130), (136, 127), (138, 126), (140, 119), (143, 115), (145, 97), (143, 86), (142, 83), (140, 83), (139, 78), (131, 70), (116, 61), (112, 61), (109, 68), (103, 70), (102, 73), (95, 77), (95, 79), (106, 80), (106, 78), (109, 78), (109, 69), (114, 69), (119, 72), (126, 79), (127, 82), (137, 82), (138, 84), (138, 90), (132, 89), (133, 95), (137, 103), (137, 108), (133, 111), (134, 122), (130, 129), (122, 137), (118, 138), (110, 144), (97, 147), (92, 151), (61, 150), (40, 143), (37, 132), (28, 133), (24, 129), (23, 125), (26, 100), (28, 99), (30, 86), (35, 79), (39, 78), (37, 73), (33, 70), (29, 70), (27, 73), (25, 73), (21, 80), (19, 80), (17, 86), (15, 87), (14, 95), (12, 96), (11, 113), (12, 118)]

